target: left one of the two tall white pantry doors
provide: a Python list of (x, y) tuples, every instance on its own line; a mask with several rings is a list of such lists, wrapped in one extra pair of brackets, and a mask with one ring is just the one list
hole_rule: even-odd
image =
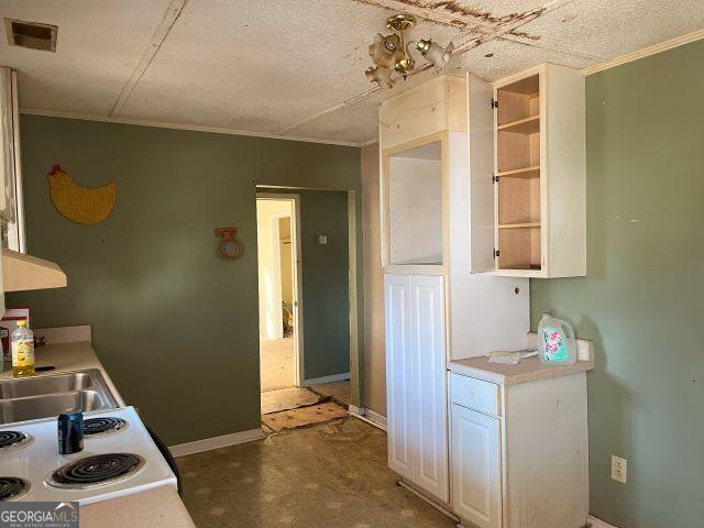
[(414, 480), (410, 282), (384, 276), (388, 466)]

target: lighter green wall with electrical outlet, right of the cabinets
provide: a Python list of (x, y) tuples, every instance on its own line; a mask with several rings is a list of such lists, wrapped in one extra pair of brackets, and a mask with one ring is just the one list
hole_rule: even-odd
[(587, 276), (530, 284), (534, 329), (596, 342), (591, 510), (620, 528), (704, 522), (703, 64), (697, 42), (587, 77)]

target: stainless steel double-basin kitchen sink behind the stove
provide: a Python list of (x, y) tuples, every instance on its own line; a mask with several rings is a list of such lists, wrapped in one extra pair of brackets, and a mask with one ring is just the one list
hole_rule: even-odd
[(0, 424), (117, 407), (97, 369), (0, 382)]

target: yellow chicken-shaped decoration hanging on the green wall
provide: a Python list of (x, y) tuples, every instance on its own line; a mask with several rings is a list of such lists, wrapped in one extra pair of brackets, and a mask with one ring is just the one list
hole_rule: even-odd
[(100, 223), (114, 207), (114, 180), (102, 187), (81, 187), (61, 165), (54, 165), (48, 173), (48, 188), (56, 210), (72, 222), (86, 226)]

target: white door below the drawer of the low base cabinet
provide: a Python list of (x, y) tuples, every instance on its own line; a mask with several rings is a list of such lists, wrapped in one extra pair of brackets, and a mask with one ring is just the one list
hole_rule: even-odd
[(452, 405), (452, 507), (481, 528), (501, 528), (501, 421)]

